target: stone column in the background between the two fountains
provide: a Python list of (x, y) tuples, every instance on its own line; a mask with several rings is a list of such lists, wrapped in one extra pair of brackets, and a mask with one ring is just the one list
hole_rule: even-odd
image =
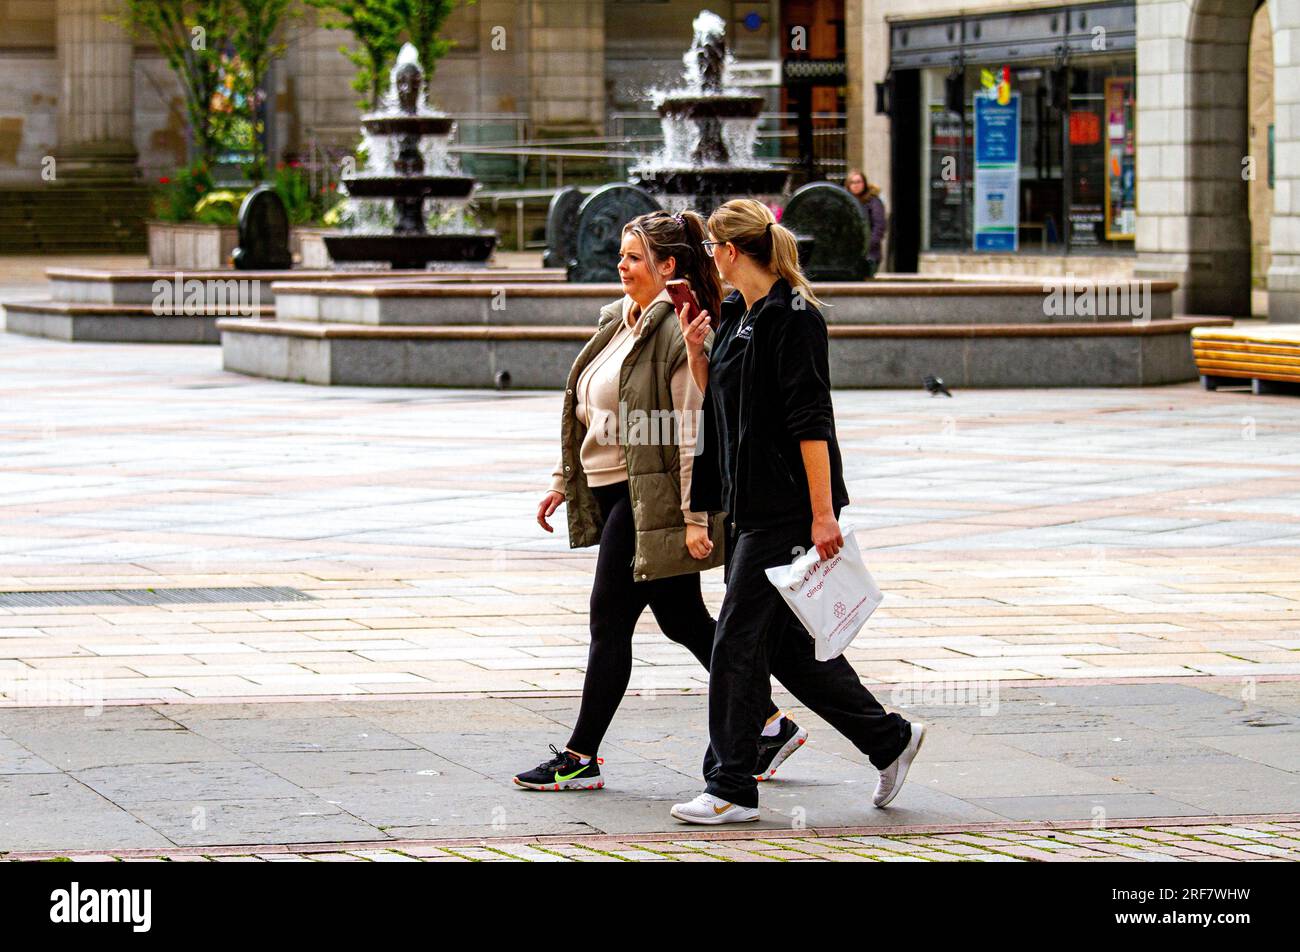
[(528, 95), (534, 130), (604, 133), (604, 0), (532, 0)]

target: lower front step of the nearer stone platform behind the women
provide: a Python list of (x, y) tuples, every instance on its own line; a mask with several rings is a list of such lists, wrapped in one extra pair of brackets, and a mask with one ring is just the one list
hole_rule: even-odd
[[(1216, 319), (1217, 320), (1217, 319)], [(1195, 319), (1149, 324), (831, 325), (831, 382), (840, 388), (1150, 386), (1195, 377)], [(592, 336), (575, 326), (376, 326), (222, 320), (224, 367), (306, 384), (563, 386)]]

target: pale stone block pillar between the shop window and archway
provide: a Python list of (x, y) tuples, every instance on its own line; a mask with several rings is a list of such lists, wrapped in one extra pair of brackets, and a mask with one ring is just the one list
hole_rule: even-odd
[[(1138, 278), (1175, 312), (1249, 316), (1251, 0), (1138, 0)], [(1274, 233), (1277, 234), (1277, 233)]]

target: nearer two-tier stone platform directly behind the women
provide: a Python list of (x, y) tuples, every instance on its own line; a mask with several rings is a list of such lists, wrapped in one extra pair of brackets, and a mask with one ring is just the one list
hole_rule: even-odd
[[(324, 281), (276, 286), (276, 320), (222, 320), (228, 371), (308, 384), (554, 389), (618, 285)], [(1091, 287), (1091, 286), (1089, 286)], [(1115, 286), (1095, 298), (1114, 300)], [(1039, 281), (818, 285), (840, 388), (1147, 386), (1192, 380), (1171, 282), (1136, 320), (1054, 307)], [(1063, 312), (1069, 311), (1069, 312)]]

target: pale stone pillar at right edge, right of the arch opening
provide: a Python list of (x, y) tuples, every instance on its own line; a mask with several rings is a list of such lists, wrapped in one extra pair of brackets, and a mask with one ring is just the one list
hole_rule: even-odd
[[(1300, 323), (1300, 5), (1269, 0), (1273, 21), (1273, 263), (1269, 323)], [(1264, 163), (1257, 163), (1264, 170)]]

